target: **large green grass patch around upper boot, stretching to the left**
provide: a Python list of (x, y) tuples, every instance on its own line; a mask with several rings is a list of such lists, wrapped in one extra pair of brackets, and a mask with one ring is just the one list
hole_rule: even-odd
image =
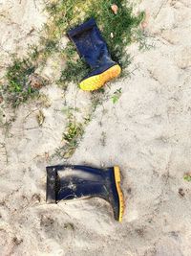
[[(8, 68), (7, 86), (4, 86), (8, 102), (17, 106), (37, 93), (29, 84), (29, 76), (39, 65), (46, 65), (47, 58), (55, 52), (66, 60), (65, 69), (57, 81), (63, 88), (66, 88), (70, 81), (78, 83), (89, 73), (90, 67), (78, 57), (74, 45), (69, 42), (65, 49), (61, 49), (59, 42), (69, 29), (91, 17), (96, 19), (112, 58), (121, 65), (125, 75), (124, 69), (131, 61), (125, 48), (132, 42), (133, 31), (138, 28), (144, 13), (135, 16), (132, 14), (132, 8), (126, 6), (125, 0), (116, 0), (118, 12), (115, 14), (111, 10), (113, 3), (113, 0), (48, 1), (45, 10), (50, 14), (50, 18), (41, 33), (39, 46), (32, 46), (27, 58), (14, 58)], [(142, 40), (142, 37), (139, 38)]]

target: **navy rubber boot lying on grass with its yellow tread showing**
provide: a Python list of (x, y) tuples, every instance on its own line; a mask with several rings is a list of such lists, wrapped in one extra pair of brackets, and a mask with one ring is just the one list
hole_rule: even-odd
[(96, 90), (105, 82), (117, 78), (121, 68), (112, 60), (94, 18), (69, 31), (68, 35), (79, 56), (92, 68), (92, 72), (79, 83), (82, 90)]

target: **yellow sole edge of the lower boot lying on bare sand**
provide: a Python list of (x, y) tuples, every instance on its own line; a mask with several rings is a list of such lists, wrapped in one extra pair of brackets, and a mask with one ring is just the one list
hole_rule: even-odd
[(114, 167), (114, 175), (115, 175), (116, 186), (117, 186), (117, 194), (118, 194), (118, 200), (119, 200), (118, 221), (121, 222), (123, 214), (124, 214), (124, 210), (125, 210), (125, 202), (124, 202), (122, 190), (120, 188), (120, 169), (119, 169), (118, 166)]

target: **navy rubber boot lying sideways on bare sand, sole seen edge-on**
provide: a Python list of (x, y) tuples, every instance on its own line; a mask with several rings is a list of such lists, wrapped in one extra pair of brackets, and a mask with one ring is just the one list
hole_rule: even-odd
[(119, 168), (96, 169), (79, 165), (47, 167), (48, 203), (87, 197), (107, 200), (113, 207), (115, 219), (122, 221), (124, 199)]

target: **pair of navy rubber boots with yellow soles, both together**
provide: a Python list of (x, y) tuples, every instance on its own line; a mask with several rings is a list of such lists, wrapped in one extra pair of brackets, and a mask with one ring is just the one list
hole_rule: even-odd
[[(92, 68), (79, 86), (93, 91), (106, 81), (117, 78), (121, 69), (113, 61), (107, 45), (94, 19), (76, 27), (68, 33), (81, 58)], [(74, 198), (96, 197), (107, 200), (113, 207), (114, 217), (122, 220), (124, 199), (120, 188), (120, 170), (117, 166), (97, 169), (87, 166), (47, 167), (47, 202)]]

